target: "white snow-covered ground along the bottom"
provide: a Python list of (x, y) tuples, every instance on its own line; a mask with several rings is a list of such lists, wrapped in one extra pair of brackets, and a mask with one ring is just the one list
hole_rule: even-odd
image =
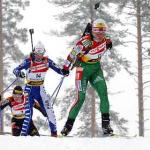
[(4, 150), (149, 150), (150, 137), (54, 138), (0, 135)]

